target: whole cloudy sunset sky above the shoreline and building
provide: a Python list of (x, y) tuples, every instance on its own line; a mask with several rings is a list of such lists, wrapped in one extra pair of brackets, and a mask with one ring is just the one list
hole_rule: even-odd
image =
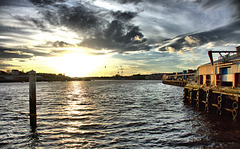
[[(240, 0), (1, 0), (0, 70), (177, 72), (240, 45)], [(218, 59), (218, 55), (214, 55)]]

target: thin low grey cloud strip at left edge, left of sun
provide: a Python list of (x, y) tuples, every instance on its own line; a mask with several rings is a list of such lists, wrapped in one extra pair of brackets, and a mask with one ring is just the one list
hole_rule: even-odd
[(38, 52), (31, 49), (15, 49), (0, 47), (0, 58), (32, 58), (33, 56), (50, 56), (49, 53)]

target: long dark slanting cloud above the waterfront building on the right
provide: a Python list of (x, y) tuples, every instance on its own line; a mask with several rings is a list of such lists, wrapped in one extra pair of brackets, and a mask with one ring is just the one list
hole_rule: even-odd
[[(240, 31), (239, 29), (240, 21), (231, 23), (224, 27), (220, 27), (217, 29), (213, 29), (206, 32), (200, 32), (195, 34), (188, 34), (176, 37), (177, 40), (172, 42), (173, 40), (163, 41), (165, 46), (162, 46), (159, 51), (167, 51), (167, 47), (172, 47), (176, 50), (182, 50), (187, 48), (198, 47), (209, 42), (214, 42), (218, 45), (224, 45), (228, 43), (236, 43), (239, 44), (240, 33), (236, 31)], [(172, 43), (170, 43), (172, 42)]]

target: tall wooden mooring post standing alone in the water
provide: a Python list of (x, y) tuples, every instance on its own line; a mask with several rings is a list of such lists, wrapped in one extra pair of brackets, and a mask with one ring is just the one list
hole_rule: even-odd
[(37, 127), (37, 110), (36, 110), (36, 71), (29, 72), (29, 112), (30, 126), (34, 130)]

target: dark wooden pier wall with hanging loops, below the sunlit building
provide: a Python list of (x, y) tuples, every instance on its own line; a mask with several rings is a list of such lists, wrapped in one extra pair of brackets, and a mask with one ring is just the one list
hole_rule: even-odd
[(183, 90), (183, 101), (218, 115), (231, 115), (234, 121), (239, 120), (240, 90), (231, 87), (216, 87), (187, 84)]

